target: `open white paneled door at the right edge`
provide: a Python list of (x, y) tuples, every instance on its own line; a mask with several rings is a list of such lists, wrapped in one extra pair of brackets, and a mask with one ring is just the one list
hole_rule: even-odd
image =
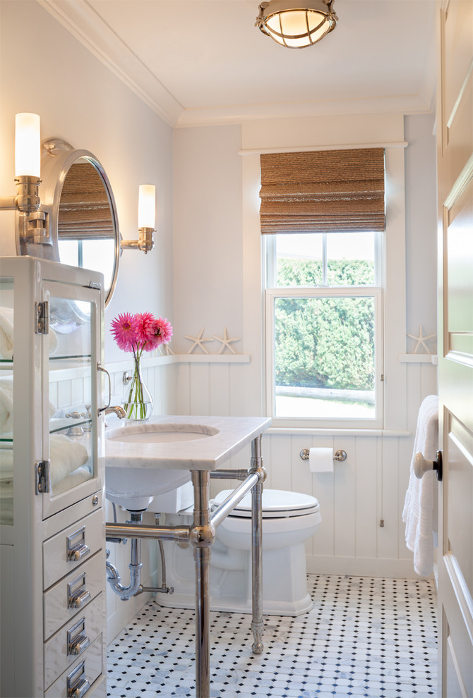
[(438, 2), (439, 698), (473, 697), (473, 0)]

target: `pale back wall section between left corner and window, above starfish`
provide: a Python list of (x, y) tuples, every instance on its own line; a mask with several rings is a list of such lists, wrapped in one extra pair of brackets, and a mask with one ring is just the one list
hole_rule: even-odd
[(206, 338), (224, 327), (243, 336), (240, 142), (238, 125), (174, 132), (174, 351), (186, 353), (184, 335), (202, 327)]

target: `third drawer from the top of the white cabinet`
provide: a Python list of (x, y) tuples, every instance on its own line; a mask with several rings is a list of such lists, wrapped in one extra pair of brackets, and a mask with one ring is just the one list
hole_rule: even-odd
[(47, 688), (84, 654), (102, 632), (103, 595), (99, 594), (81, 613), (68, 621), (44, 644), (44, 688)]

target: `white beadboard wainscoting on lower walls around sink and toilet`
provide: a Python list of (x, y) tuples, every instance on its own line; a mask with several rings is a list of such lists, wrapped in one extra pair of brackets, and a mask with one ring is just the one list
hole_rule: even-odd
[[(154, 400), (157, 415), (244, 415), (245, 371), (248, 355), (170, 355), (143, 359), (143, 380)], [(107, 364), (112, 378), (112, 404), (119, 404), (126, 391), (124, 372), (133, 362), (126, 359)], [(321, 503), (322, 523), (307, 541), (308, 573), (369, 577), (416, 577), (412, 554), (405, 545), (402, 508), (409, 482), (409, 465), (417, 413), (425, 396), (436, 393), (436, 367), (431, 362), (406, 363), (407, 399), (405, 431), (338, 431), (270, 429), (263, 436), (263, 461), (268, 471), (265, 486), (311, 494)], [(56, 409), (78, 408), (88, 403), (83, 379), (77, 372), (57, 372), (50, 398)], [(256, 414), (257, 410), (255, 410)], [(107, 415), (109, 426), (119, 424)], [(302, 460), (304, 448), (330, 447), (347, 452), (344, 463), (333, 473), (314, 474)], [(238, 453), (228, 467), (249, 467), (250, 448)], [(236, 486), (212, 480), (212, 495)], [(117, 509), (119, 520), (126, 512)], [(152, 514), (145, 515), (152, 522)], [(112, 507), (107, 502), (107, 520)], [(128, 584), (129, 541), (107, 544), (110, 561)], [(160, 584), (160, 562), (155, 541), (143, 541), (143, 580)], [(104, 570), (105, 574), (105, 570)], [(150, 598), (141, 594), (124, 603), (107, 591), (109, 641), (130, 622)]]

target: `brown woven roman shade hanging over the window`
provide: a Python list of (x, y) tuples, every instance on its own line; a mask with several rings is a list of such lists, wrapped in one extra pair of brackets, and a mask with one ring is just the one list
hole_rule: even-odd
[(261, 233), (384, 230), (384, 149), (261, 155)]

